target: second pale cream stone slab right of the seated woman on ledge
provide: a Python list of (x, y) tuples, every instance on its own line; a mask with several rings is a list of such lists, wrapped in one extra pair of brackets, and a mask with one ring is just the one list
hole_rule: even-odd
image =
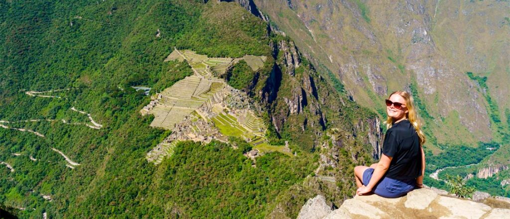
[(451, 216), (480, 218), (483, 214), (491, 210), (491, 207), (483, 203), (444, 196), (439, 197), (437, 203), (443, 207), (446, 207), (451, 212), (451, 215), (445, 215), (446, 217), (444, 218)]

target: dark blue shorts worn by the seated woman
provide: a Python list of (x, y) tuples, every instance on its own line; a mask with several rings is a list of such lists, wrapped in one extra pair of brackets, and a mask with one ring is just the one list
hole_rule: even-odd
[[(373, 168), (368, 168), (363, 172), (363, 185), (367, 186), (374, 173)], [(394, 180), (388, 177), (384, 177), (377, 184), (375, 184), (372, 192), (377, 196), (385, 198), (398, 198), (405, 196), (407, 192), (412, 191), (415, 188), (416, 180)]]

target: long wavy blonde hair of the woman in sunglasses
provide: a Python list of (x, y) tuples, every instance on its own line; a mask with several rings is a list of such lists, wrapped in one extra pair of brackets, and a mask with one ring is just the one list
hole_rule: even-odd
[[(423, 132), (421, 130), (421, 127), (423, 126), (423, 123), (422, 123), (421, 119), (418, 116), (418, 112), (416, 112), (416, 109), (415, 109), (415, 106), (414, 106), (413, 96), (411, 96), (411, 94), (409, 94), (406, 91), (400, 91), (400, 90), (391, 93), (390, 97), (393, 94), (398, 94), (398, 95), (402, 96), (402, 98), (404, 98), (404, 100), (405, 100), (405, 107), (407, 108), (407, 113), (405, 114), (405, 116), (407, 117), (409, 122), (415, 128), (416, 133), (418, 134), (418, 138), (420, 138), (420, 145), (425, 144), (425, 134), (423, 134)], [(393, 118), (388, 116), (388, 118), (386, 119), (385, 123), (386, 123), (386, 127), (388, 129), (390, 129), (392, 127), (392, 125), (393, 125)]]

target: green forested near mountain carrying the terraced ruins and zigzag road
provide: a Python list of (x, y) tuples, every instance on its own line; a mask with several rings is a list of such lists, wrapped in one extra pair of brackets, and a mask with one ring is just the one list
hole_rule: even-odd
[[(268, 27), (217, 1), (1, 1), (0, 203), (23, 218), (295, 217), (317, 193), (339, 206), (379, 121)], [(151, 103), (166, 115), (141, 113)], [(192, 126), (167, 122), (190, 109)]]

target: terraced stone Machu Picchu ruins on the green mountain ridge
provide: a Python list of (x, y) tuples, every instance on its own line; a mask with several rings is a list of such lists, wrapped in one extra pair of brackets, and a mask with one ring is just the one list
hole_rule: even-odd
[(253, 146), (267, 142), (264, 135), (267, 128), (254, 103), (246, 93), (218, 78), (240, 60), (256, 71), (264, 65), (266, 57), (209, 58), (175, 48), (165, 61), (174, 60), (186, 60), (194, 74), (152, 95), (150, 103), (140, 110), (142, 115), (154, 115), (151, 127), (172, 130), (147, 154), (149, 162), (161, 163), (184, 140), (227, 142), (229, 136), (235, 136)]

